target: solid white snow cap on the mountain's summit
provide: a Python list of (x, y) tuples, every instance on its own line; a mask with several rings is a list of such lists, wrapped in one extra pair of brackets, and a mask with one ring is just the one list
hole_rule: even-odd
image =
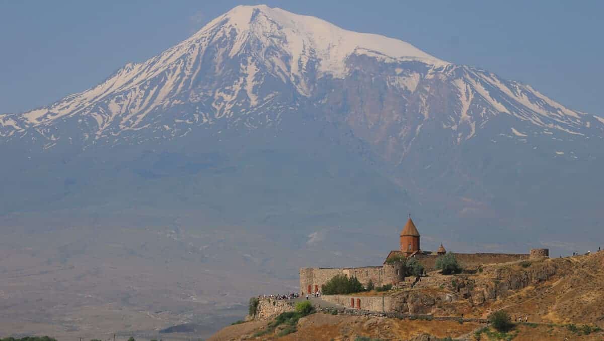
[(317, 57), (320, 73), (336, 77), (344, 76), (345, 59), (351, 54), (421, 60), (431, 65), (449, 64), (399, 39), (344, 30), (320, 18), (267, 5), (237, 6), (208, 23), (196, 36), (202, 36), (220, 25), (235, 28), (243, 36), (252, 34), (266, 45), (278, 40), (291, 53), (292, 71), (296, 71), (309, 54)]

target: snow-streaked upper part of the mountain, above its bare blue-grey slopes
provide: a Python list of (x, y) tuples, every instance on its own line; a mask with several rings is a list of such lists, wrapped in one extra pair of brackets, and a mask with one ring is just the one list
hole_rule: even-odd
[[(22, 114), (0, 115), (0, 137), (42, 138), (51, 148), (73, 135), (59, 129), (71, 119), (85, 140), (136, 131), (176, 138), (217, 122), (246, 129), (276, 125), (283, 112), (306, 102), (329, 102), (330, 94), (322, 94), (326, 82), (347, 82), (367, 60), (381, 65), (376, 75), (405, 99), (405, 110), (414, 108), (424, 120), (438, 114), (443, 128), (459, 129), (457, 143), (498, 115), (541, 132), (585, 136), (597, 131), (601, 136), (604, 131), (603, 119), (565, 108), (531, 86), (452, 65), (397, 39), (256, 5), (233, 8), (175, 47), (146, 62), (128, 63), (82, 93)], [(422, 124), (403, 126), (400, 138), (419, 134)], [(530, 130), (517, 128), (525, 131), (521, 134)]]

